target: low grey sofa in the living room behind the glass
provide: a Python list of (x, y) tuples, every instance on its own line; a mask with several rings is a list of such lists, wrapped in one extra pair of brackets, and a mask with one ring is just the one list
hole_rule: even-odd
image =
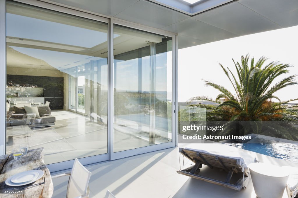
[(39, 117), (26, 112), (25, 108), (10, 107), (7, 112), (6, 126), (28, 125), (34, 128), (55, 125), (56, 118), (51, 115), (51, 109), (48, 106), (40, 106), (37, 109)]

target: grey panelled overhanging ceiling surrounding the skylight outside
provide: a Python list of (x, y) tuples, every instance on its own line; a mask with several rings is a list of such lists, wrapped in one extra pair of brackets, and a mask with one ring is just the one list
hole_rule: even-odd
[(298, 25), (297, 0), (237, 0), (194, 16), (148, 0), (52, 2), (178, 33), (179, 48)]

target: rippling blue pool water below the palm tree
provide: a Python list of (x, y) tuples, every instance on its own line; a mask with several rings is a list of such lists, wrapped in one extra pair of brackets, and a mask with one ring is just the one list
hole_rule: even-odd
[(298, 163), (298, 144), (262, 139), (260, 143), (227, 144), (244, 150)]

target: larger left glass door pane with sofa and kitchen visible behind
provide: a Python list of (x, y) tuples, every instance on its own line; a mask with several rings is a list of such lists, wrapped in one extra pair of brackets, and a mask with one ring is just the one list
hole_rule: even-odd
[(42, 103), (35, 120), (7, 118), (8, 153), (44, 147), (46, 164), (107, 153), (108, 25), (10, 1), (6, 17), (7, 97)]

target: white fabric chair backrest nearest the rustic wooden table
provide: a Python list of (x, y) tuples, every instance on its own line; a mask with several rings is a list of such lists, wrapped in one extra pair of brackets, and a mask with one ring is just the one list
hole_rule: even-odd
[(72, 166), (72, 172), (67, 186), (67, 198), (87, 195), (88, 183), (91, 177), (89, 172), (77, 158)]

